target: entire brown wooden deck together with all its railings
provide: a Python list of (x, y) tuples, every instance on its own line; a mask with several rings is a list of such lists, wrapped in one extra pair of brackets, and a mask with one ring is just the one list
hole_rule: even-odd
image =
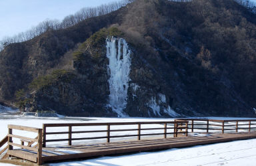
[[(15, 135), (13, 130), (22, 131), (23, 134)], [(32, 132), (36, 137), (26, 137), (25, 132)], [(195, 132), (205, 133), (205, 136), (193, 136)], [(76, 134), (79, 134), (79, 137)], [(125, 141), (124, 138), (129, 138), (129, 140)], [(14, 156), (41, 165), (65, 159), (253, 138), (256, 138), (256, 120), (183, 119), (168, 122), (43, 124), (42, 128), (8, 125), (8, 134), (0, 141), (0, 147), (3, 145), (6, 147), (0, 151), (0, 155), (7, 151), (3, 159)], [(91, 140), (93, 143), (86, 143), (86, 140)], [(99, 143), (104, 140), (105, 143)], [(63, 145), (63, 141), (66, 145)], [(59, 147), (51, 146), (53, 145), (51, 142), (55, 142), (54, 145), (59, 145)]]

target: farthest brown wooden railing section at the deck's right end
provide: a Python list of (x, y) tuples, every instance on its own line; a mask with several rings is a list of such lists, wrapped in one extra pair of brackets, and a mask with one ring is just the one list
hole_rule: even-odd
[(256, 120), (207, 120), (207, 119), (179, 119), (189, 121), (188, 129), (194, 132), (195, 129), (201, 132), (219, 131), (229, 132), (250, 132), (256, 129)]

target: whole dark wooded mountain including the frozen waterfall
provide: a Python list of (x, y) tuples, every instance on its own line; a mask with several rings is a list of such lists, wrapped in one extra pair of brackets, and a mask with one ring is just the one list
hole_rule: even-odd
[(233, 0), (137, 0), (0, 52), (0, 102), (69, 116), (247, 116), (256, 15)]

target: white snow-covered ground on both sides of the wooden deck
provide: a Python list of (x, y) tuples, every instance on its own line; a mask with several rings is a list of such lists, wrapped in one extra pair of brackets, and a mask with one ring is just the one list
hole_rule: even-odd
[[(91, 122), (144, 122), (144, 121), (170, 121), (171, 118), (35, 118), (29, 116), (16, 115), (16, 110), (1, 108), (0, 112), (0, 140), (7, 134), (7, 125), (25, 125), (31, 127), (42, 127), (47, 123), (91, 123)], [(233, 118), (211, 118), (211, 119), (233, 119)], [(243, 118), (244, 119), (244, 118)], [(145, 127), (161, 127), (161, 125), (148, 125)], [(105, 129), (105, 126), (97, 129)], [(129, 126), (131, 128), (135, 126)], [(127, 128), (129, 128), (127, 127)], [(84, 128), (74, 128), (83, 130)], [(89, 128), (95, 129), (93, 127)], [(111, 128), (112, 129), (112, 128)], [(118, 126), (113, 129), (119, 129)], [(124, 129), (124, 128), (122, 128)], [(65, 127), (56, 131), (67, 131)], [(155, 131), (157, 132), (157, 131)], [(15, 133), (18, 134), (19, 132)], [(93, 133), (91, 133), (93, 135)], [(97, 133), (99, 134), (99, 133)], [(105, 133), (102, 133), (103, 135)], [(123, 135), (123, 133), (121, 133)], [(131, 131), (129, 134), (132, 134)], [(118, 134), (117, 134), (118, 135)], [(27, 137), (34, 137), (33, 133), (26, 133)], [(51, 135), (52, 136), (52, 135)], [(77, 135), (81, 137), (83, 135)], [(87, 134), (89, 137), (90, 135)], [(97, 136), (94, 135), (93, 136)], [(58, 137), (52, 136), (54, 139)], [(63, 135), (64, 138), (65, 135)], [(131, 138), (129, 138), (131, 139)], [(111, 139), (112, 140), (112, 139)], [(90, 141), (90, 140), (89, 140)], [(99, 140), (99, 141), (105, 141)], [(65, 143), (65, 142), (64, 142)], [(79, 142), (75, 142), (79, 143)], [(58, 146), (59, 144), (49, 143), (47, 145)], [(233, 141), (229, 143), (216, 143), (212, 145), (202, 145), (181, 149), (169, 149), (165, 151), (151, 151), (143, 153), (133, 153), (121, 156), (99, 157), (87, 159), (85, 161), (73, 161), (65, 163), (51, 163), (49, 165), (255, 165), (256, 163), (256, 139), (244, 141)], [(7, 165), (0, 163), (0, 165)], [(8, 165), (7, 165), (8, 166)]]

